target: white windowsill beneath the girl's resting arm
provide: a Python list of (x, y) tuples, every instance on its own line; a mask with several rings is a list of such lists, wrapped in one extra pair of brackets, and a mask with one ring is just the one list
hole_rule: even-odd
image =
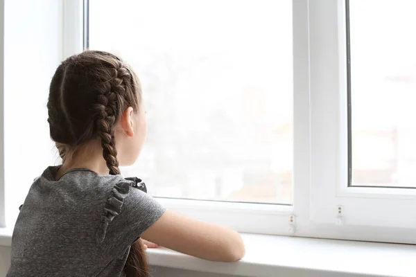
[[(0, 228), (0, 246), (10, 246)], [(247, 254), (234, 263), (207, 262), (168, 249), (148, 249), (151, 265), (236, 276), (415, 276), (416, 247), (243, 234)]]

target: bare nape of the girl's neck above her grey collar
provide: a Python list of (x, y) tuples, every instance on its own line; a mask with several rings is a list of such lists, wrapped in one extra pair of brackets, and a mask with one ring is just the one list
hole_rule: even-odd
[(62, 175), (74, 168), (87, 168), (98, 175), (108, 175), (109, 170), (103, 158), (103, 148), (96, 143), (88, 143), (74, 151), (56, 172), (55, 179), (60, 179)]

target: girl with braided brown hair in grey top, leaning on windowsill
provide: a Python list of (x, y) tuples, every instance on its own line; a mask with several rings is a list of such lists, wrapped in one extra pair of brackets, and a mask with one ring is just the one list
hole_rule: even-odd
[(69, 57), (47, 107), (62, 165), (46, 168), (21, 206), (7, 276), (148, 276), (139, 237), (206, 260), (244, 256), (235, 231), (166, 211), (140, 179), (121, 177), (147, 132), (139, 80), (123, 60)]

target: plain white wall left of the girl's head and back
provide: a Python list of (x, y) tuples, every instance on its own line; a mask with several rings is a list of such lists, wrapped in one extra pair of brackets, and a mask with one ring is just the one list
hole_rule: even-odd
[(6, 226), (12, 226), (33, 179), (54, 162), (46, 102), (62, 57), (62, 1), (6, 0), (4, 10)]

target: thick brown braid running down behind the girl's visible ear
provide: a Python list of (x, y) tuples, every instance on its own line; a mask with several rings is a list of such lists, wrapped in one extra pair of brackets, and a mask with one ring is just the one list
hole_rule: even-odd
[(125, 69), (123, 62), (118, 61), (117, 67), (113, 69), (113, 78), (99, 91), (96, 110), (96, 128), (101, 138), (103, 157), (110, 170), (110, 175), (119, 175), (119, 161), (117, 160), (116, 140), (114, 137), (114, 122), (120, 113), (121, 99), (125, 94), (125, 81), (130, 82), (131, 75)]

